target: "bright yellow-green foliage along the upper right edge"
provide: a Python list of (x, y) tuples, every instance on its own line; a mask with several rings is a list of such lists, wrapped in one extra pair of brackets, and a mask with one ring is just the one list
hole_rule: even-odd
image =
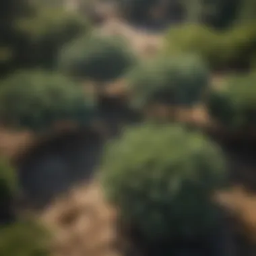
[(165, 53), (197, 53), (213, 69), (243, 69), (250, 67), (255, 43), (255, 24), (236, 26), (226, 32), (189, 24), (168, 31)]

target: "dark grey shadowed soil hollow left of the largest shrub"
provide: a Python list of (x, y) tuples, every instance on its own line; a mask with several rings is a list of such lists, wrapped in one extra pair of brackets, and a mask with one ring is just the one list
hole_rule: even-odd
[(42, 206), (76, 183), (92, 177), (102, 139), (94, 131), (78, 131), (43, 141), (19, 162), (20, 183), (28, 201)]

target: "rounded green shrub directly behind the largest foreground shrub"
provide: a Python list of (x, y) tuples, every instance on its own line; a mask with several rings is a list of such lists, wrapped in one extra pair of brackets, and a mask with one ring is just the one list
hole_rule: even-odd
[(151, 103), (191, 105), (207, 86), (209, 71), (201, 59), (186, 55), (143, 63), (128, 79), (131, 103), (136, 107)]

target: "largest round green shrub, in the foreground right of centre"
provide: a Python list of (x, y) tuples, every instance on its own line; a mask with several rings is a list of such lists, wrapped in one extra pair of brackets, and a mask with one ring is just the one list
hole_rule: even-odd
[(106, 196), (145, 238), (195, 238), (218, 222), (210, 197), (226, 184), (224, 159), (200, 133), (143, 125), (125, 130), (104, 153)]

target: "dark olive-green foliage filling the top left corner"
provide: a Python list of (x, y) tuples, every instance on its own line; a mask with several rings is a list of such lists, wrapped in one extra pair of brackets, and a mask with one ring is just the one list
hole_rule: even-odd
[(54, 68), (60, 47), (90, 29), (84, 18), (62, 7), (32, 3), (0, 3), (0, 75), (20, 67)]

